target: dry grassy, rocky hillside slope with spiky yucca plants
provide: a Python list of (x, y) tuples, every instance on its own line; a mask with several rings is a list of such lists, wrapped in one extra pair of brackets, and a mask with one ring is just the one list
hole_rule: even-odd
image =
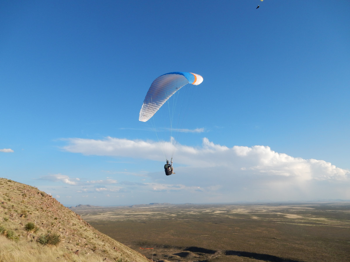
[[(36, 229), (29, 230), (28, 223)], [(58, 245), (38, 242), (48, 232), (62, 238)], [(149, 262), (52, 196), (4, 178), (0, 178), (0, 261)]]

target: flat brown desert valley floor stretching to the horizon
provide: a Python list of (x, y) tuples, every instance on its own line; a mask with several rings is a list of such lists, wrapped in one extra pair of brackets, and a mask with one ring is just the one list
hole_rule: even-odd
[(158, 262), (350, 261), (348, 202), (72, 210), (100, 232)]

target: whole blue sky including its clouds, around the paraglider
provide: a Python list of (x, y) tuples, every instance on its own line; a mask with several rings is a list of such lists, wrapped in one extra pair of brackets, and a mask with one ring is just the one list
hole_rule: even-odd
[[(349, 9), (2, 1), (0, 176), (66, 206), (350, 199)], [(200, 132), (178, 133), (165, 176), (138, 116), (174, 71), (204, 78), (179, 102), (181, 128)]]

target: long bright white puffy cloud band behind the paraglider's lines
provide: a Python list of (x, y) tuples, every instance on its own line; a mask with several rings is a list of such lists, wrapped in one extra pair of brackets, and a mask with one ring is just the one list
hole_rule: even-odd
[[(107, 155), (135, 159), (163, 159), (161, 143), (107, 137), (103, 140), (72, 138), (63, 149), (85, 155)], [(178, 144), (174, 160), (189, 168), (221, 168), (224, 172), (261, 176), (298, 177), (301, 180), (346, 180), (349, 170), (323, 160), (302, 159), (271, 150), (268, 146), (233, 146), (214, 144), (203, 138), (201, 147)], [(107, 180), (108, 181), (108, 180)], [(110, 181), (112, 182), (112, 180)], [(93, 181), (91, 181), (93, 183)]]

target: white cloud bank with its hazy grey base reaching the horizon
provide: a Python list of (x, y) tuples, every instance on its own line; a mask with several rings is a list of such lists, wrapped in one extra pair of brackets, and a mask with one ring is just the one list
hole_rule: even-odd
[[(67, 144), (62, 149), (71, 153), (151, 161), (163, 159), (160, 143), (153, 140), (113, 137), (64, 140)], [(226, 147), (203, 138), (199, 147), (177, 144), (174, 166), (176, 175), (172, 179), (165, 176), (162, 167), (156, 172), (130, 173), (138, 176), (138, 182), (114, 179), (124, 179), (123, 172), (110, 172), (110, 176), (115, 176), (113, 179), (96, 181), (82, 181), (61, 174), (41, 179), (80, 186), (76, 192), (83, 194), (108, 192), (108, 197), (125, 196), (137, 190), (140, 199), (146, 202), (146, 199), (152, 202), (159, 192), (164, 202), (172, 203), (174, 199), (177, 203), (350, 199), (349, 170), (323, 160), (278, 153), (268, 146)], [(186, 198), (182, 199), (184, 195)]]

